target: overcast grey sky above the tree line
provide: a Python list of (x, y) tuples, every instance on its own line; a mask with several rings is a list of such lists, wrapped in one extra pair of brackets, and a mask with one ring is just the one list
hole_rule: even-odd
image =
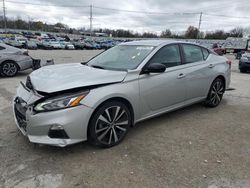
[[(166, 28), (172, 31), (183, 31), (189, 25), (198, 27), (199, 12), (204, 13), (201, 23), (202, 31), (250, 26), (250, 0), (6, 0), (7, 17), (20, 16), (26, 20), (30, 17), (34, 21), (62, 22), (70, 27), (85, 27), (86, 29), (89, 28), (90, 8), (83, 6), (90, 4), (94, 6), (94, 28), (122, 28), (157, 33)], [(212, 16), (214, 14), (225, 17)]]

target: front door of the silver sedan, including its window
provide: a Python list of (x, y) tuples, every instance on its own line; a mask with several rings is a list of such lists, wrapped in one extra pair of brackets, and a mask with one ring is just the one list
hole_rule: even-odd
[(161, 63), (167, 68), (163, 73), (150, 73), (139, 76), (143, 114), (181, 103), (186, 98), (185, 81), (182, 79), (184, 77), (180, 46), (171, 44), (162, 47), (149, 60), (147, 65), (151, 63)]

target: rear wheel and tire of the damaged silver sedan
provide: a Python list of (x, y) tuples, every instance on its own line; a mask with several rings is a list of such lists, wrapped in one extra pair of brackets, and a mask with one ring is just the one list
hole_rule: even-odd
[(205, 105), (208, 107), (216, 107), (220, 104), (225, 92), (225, 84), (221, 78), (216, 78), (209, 89)]

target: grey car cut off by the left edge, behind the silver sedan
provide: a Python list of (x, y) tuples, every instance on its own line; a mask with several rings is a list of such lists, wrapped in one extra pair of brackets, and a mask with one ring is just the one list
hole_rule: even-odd
[(12, 77), (18, 71), (32, 68), (32, 58), (27, 50), (20, 50), (12, 46), (0, 43), (0, 73)]

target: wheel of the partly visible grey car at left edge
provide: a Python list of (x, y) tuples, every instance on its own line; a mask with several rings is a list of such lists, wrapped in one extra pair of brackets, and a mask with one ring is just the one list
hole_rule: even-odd
[(16, 76), (19, 70), (18, 65), (14, 61), (5, 61), (0, 67), (0, 72), (6, 77)]

